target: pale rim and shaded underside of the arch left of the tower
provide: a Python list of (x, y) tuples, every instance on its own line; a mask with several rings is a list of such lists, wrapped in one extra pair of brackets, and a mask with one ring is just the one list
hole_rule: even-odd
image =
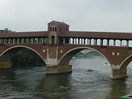
[(44, 64), (46, 64), (44, 58), (40, 55), (39, 52), (37, 52), (35, 49), (28, 47), (28, 46), (24, 46), (24, 45), (17, 45), (17, 46), (13, 46), (13, 47), (9, 47), (7, 48), (4, 52), (2, 52), (0, 54), (0, 61), (4, 60), (4, 61), (8, 61), (10, 62), (10, 59), (12, 58), (12, 56), (17, 52), (22, 50), (22, 48), (24, 49), (28, 49), (32, 52), (34, 52), (36, 55), (38, 55), (38, 57), (40, 57), (40, 59), (43, 61)]

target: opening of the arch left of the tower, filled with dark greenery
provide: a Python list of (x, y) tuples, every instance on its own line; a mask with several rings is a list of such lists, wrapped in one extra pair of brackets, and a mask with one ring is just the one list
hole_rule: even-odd
[(45, 66), (41, 55), (32, 48), (26, 46), (15, 46), (7, 49), (0, 56), (1, 61), (9, 61), (10, 68)]

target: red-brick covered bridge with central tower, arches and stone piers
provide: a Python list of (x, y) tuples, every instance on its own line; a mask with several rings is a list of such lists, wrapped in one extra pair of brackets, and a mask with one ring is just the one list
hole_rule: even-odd
[[(28, 48), (37, 53), (43, 61), (47, 64), (47, 71), (49, 73), (64, 73), (70, 72), (71, 67), (69, 66), (70, 59), (79, 51), (83, 49), (92, 49), (99, 52), (104, 56), (111, 65), (112, 68), (112, 77), (113, 78), (122, 78), (126, 77), (126, 67), (131, 60), (132, 49), (128, 46), (102, 46), (103, 39), (105, 40), (125, 40), (128, 45), (129, 40), (132, 40), (131, 33), (117, 33), (117, 32), (79, 32), (79, 31), (69, 31), (69, 25), (63, 22), (52, 21), (48, 23), (48, 31), (40, 32), (11, 32), (11, 33), (0, 33), (0, 39), (17, 39), (22, 38), (23, 42), (27, 38), (46, 38), (47, 43), (4, 43), (0, 45), (0, 62), (3, 64), (4, 61), (7, 61), (5, 65), (9, 63), (11, 56), (10, 49), (15, 49), (19, 47)], [(26, 38), (26, 39), (25, 39)], [(86, 44), (70, 44), (70, 38), (83, 38), (92, 39), (97, 42), (98, 39), (101, 41), (101, 45), (86, 45)], [(37, 39), (38, 40), (38, 39)], [(79, 40), (77, 40), (79, 42)], [(37, 41), (39, 42), (39, 40)], [(4, 58), (3, 55), (7, 54)], [(9, 64), (8, 64), (9, 65)], [(49, 67), (50, 66), (50, 67)], [(55, 66), (55, 67), (54, 67)], [(64, 66), (64, 68), (60, 67)], [(69, 66), (69, 67), (66, 67)], [(8, 67), (8, 66), (7, 66)], [(53, 67), (53, 68), (52, 68)], [(63, 70), (63, 71), (62, 71)], [(51, 72), (52, 71), (52, 72)]]

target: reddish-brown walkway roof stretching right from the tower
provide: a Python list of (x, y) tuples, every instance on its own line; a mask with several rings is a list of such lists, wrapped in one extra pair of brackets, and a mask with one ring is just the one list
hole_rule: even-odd
[(103, 39), (132, 39), (132, 33), (125, 32), (79, 32), (69, 31), (59, 35), (60, 37), (82, 37), (82, 38), (103, 38)]

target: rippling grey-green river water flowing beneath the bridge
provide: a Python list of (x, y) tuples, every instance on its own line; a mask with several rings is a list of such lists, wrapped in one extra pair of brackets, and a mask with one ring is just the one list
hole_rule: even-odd
[(111, 69), (101, 56), (74, 58), (73, 72), (45, 75), (45, 68), (0, 71), (0, 99), (120, 99), (132, 93), (132, 69), (127, 79), (111, 80)]

